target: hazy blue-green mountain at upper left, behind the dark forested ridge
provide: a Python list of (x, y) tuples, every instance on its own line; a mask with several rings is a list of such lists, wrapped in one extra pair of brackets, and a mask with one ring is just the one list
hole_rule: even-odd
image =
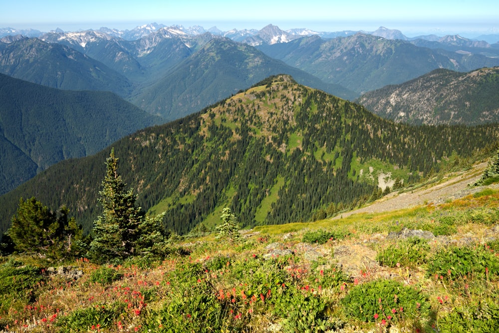
[(130, 94), (132, 84), (122, 74), (68, 46), (38, 38), (0, 41), (0, 73), (65, 90)]

